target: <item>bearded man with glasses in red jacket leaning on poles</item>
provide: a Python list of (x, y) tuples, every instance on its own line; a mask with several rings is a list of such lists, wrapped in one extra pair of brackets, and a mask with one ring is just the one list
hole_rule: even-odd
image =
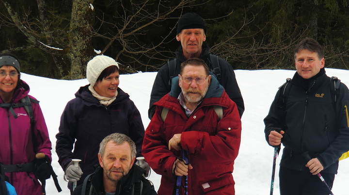
[(188, 185), (182, 179), (178, 194), (235, 195), (232, 172), (240, 146), (240, 116), (205, 62), (190, 58), (182, 63), (171, 92), (155, 104), (142, 153), (162, 176), (158, 194), (172, 194), (176, 177), (185, 176)]

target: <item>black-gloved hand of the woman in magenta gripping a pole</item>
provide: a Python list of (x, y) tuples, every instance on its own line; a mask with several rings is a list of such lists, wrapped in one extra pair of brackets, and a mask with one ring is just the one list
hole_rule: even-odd
[(44, 153), (37, 153), (35, 155), (34, 173), (36, 179), (45, 180), (51, 177), (50, 159)]

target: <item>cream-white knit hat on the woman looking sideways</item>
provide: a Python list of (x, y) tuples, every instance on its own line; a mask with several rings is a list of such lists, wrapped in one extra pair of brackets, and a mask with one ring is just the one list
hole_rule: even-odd
[(111, 65), (116, 65), (119, 68), (118, 63), (109, 56), (97, 55), (87, 63), (86, 77), (91, 86), (95, 86), (100, 73)]

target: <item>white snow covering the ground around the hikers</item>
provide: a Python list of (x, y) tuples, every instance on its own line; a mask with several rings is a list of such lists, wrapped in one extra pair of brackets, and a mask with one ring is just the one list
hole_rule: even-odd
[[(263, 119), (280, 85), (286, 78), (292, 78), (292, 70), (235, 70), (238, 85), (245, 102), (242, 116), (242, 137), (238, 158), (235, 161), (234, 179), (236, 195), (269, 195), (273, 148), (265, 141)], [(336, 76), (349, 86), (349, 70), (327, 68), (328, 76)], [(149, 124), (147, 116), (149, 98), (156, 72), (120, 75), (119, 87), (130, 95), (142, 114), (144, 128)], [(74, 98), (80, 86), (88, 84), (86, 79), (76, 81), (54, 80), (22, 73), (21, 78), (30, 87), (30, 94), (40, 100), (49, 136), (52, 142), (52, 165), (63, 189), (58, 193), (53, 180), (47, 180), (47, 195), (69, 195), (63, 180), (63, 170), (55, 153), (55, 135), (58, 132), (60, 116), (66, 103)], [(281, 154), (280, 154), (281, 155)], [(97, 158), (97, 157), (96, 157)], [(280, 161), (280, 157), (277, 159)], [(275, 176), (274, 195), (279, 195), (278, 166)], [(149, 179), (156, 190), (160, 176), (152, 171)], [(349, 183), (349, 159), (339, 163), (338, 174), (333, 185), (333, 194), (347, 195)]]

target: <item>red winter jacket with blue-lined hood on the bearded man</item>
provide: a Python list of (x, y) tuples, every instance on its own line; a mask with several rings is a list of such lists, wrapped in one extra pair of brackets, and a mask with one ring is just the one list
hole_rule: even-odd
[[(174, 134), (182, 133), (181, 146), (188, 151), (193, 167), (188, 172), (188, 195), (235, 195), (232, 172), (241, 138), (236, 104), (212, 75), (206, 97), (188, 118), (177, 100), (180, 88), (177, 87), (178, 78), (174, 79), (172, 91), (156, 103), (156, 112), (145, 131), (142, 147), (145, 160), (162, 176), (158, 194), (173, 193), (176, 178), (172, 165), (177, 156), (181, 157), (181, 151), (170, 151), (168, 142)], [(223, 108), (221, 120), (214, 111), (215, 105)], [(169, 108), (164, 122), (160, 116), (163, 107)]]

